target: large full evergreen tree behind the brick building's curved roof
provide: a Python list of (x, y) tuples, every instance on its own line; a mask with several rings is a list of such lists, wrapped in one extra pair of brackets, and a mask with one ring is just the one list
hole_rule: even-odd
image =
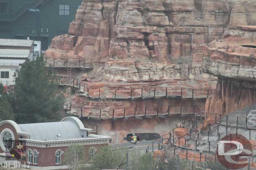
[(57, 121), (64, 99), (43, 57), (25, 61), (15, 77), (13, 109), (18, 123)]

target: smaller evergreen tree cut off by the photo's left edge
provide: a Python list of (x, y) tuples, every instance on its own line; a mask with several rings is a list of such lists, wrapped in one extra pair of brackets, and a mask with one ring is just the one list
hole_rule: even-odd
[(4, 91), (3, 84), (0, 84), (0, 121), (14, 120), (13, 109), (9, 101), (9, 94)]

